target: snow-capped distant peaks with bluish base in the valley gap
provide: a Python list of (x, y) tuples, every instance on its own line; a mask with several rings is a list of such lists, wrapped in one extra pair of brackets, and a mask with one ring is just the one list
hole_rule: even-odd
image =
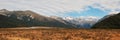
[(70, 18), (66, 17), (66, 21), (73, 23), (77, 26), (77, 28), (91, 28), (93, 24), (97, 22), (98, 19), (92, 17), (85, 17), (85, 18)]

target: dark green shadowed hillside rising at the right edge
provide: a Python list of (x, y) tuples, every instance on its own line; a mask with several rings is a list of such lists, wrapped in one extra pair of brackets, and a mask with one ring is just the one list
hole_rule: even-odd
[(120, 29), (120, 13), (102, 19), (100, 22), (96, 23), (92, 28)]

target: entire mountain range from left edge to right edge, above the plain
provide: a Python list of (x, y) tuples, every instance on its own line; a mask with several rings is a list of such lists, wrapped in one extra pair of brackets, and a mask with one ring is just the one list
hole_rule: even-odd
[(30, 10), (0, 10), (0, 28), (57, 27), (57, 28), (120, 28), (120, 13), (98, 19), (95, 17), (43, 16)]

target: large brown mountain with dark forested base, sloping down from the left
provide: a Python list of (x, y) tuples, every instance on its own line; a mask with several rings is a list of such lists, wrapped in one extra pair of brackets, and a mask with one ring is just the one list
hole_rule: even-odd
[(6, 9), (0, 10), (0, 28), (34, 27), (34, 26), (75, 28), (74, 25), (62, 23), (50, 17), (39, 15), (30, 10), (26, 11), (8, 11)]

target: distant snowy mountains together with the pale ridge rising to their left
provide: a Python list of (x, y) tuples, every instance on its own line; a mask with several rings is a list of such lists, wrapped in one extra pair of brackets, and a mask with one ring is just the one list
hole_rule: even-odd
[(88, 18), (72, 18), (72, 17), (57, 17), (51, 16), (51, 18), (57, 19), (63, 23), (69, 23), (75, 25), (76, 28), (91, 28), (93, 24), (97, 22), (97, 18), (88, 17)]

